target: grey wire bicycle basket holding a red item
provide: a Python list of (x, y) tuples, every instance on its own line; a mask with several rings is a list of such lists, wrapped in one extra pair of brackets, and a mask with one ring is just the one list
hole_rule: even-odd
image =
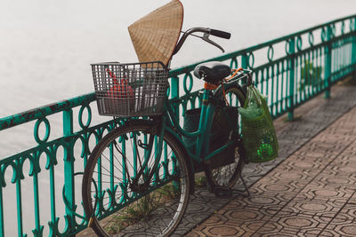
[(92, 64), (100, 115), (161, 115), (168, 87), (162, 62)]

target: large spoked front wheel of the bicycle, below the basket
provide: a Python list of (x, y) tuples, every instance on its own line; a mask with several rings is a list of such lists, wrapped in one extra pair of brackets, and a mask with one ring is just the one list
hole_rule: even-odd
[(150, 122), (111, 131), (94, 147), (83, 178), (85, 216), (99, 236), (167, 236), (189, 201), (190, 176), (184, 153)]

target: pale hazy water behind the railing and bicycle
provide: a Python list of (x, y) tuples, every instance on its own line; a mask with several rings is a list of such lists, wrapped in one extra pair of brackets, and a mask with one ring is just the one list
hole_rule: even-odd
[[(2, 0), (0, 117), (92, 92), (89, 64), (136, 61), (127, 27), (167, 2)], [(231, 32), (230, 41), (215, 40), (227, 52), (356, 13), (354, 0), (182, 0), (182, 4), (183, 29), (198, 26)], [(219, 55), (221, 51), (213, 46), (190, 38), (174, 56), (172, 67)], [(60, 123), (59, 128), (56, 122), (51, 125), (52, 130), (61, 130)], [(28, 148), (32, 130), (33, 125), (28, 138), (24, 129), (0, 131), (0, 159)], [(56, 175), (62, 176), (60, 172)], [(48, 178), (42, 182), (48, 185)], [(61, 199), (61, 183), (56, 184)], [(29, 198), (24, 205), (24, 218), (31, 219), (25, 224), (28, 230), (33, 226), (32, 203)], [(5, 226), (16, 226), (15, 204), (5, 208)], [(43, 215), (46, 220), (49, 214)], [(6, 236), (14, 236), (15, 229), (7, 228)]]

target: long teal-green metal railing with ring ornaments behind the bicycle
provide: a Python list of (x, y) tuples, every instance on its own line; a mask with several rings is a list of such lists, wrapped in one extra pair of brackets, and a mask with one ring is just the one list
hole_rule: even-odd
[[(287, 113), (293, 120), (295, 107), (322, 92), (329, 98), (334, 83), (355, 75), (356, 15), (209, 60), (252, 69), (255, 85), (268, 95), (271, 115), (277, 118)], [(198, 91), (193, 91), (191, 74), (197, 65), (170, 72), (170, 97), (181, 117), (201, 103)], [(32, 126), (30, 122), (34, 122), (36, 142), (32, 148), (0, 160), (0, 236), (10, 229), (13, 233), (14, 225), (6, 225), (10, 214), (4, 213), (9, 205), (14, 206), (12, 215), (16, 216), (19, 236), (31, 231), (34, 236), (70, 236), (85, 229), (76, 178), (83, 172), (90, 150), (118, 122), (92, 125), (96, 118), (93, 114), (97, 115), (92, 113), (94, 101), (92, 93), (0, 119), (0, 130), (25, 123)], [(61, 115), (61, 119), (50, 122), (53, 115)], [(51, 124), (58, 123), (62, 123), (61, 136), (53, 138)], [(45, 186), (43, 175), (47, 177)], [(50, 209), (43, 208), (44, 200), (50, 203)]]

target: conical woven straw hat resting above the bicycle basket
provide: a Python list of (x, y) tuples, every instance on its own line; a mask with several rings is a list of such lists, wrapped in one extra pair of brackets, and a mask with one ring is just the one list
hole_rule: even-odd
[(140, 62), (171, 59), (182, 30), (183, 6), (179, 0), (158, 8), (132, 24), (128, 31)]

